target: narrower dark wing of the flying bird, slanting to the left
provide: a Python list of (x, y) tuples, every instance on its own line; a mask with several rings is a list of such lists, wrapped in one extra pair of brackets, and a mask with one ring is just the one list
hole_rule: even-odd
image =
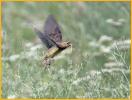
[(55, 44), (52, 42), (52, 40), (46, 35), (46, 33), (42, 33), (37, 28), (34, 28), (35, 32), (38, 34), (41, 41), (46, 45), (46, 47), (49, 49)]

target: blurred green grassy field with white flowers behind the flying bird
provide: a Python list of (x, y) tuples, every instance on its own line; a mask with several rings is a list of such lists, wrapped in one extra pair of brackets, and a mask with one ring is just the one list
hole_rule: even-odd
[[(71, 49), (50, 67), (34, 32), (54, 15)], [(3, 98), (128, 98), (129, 2), (3, 2)]]

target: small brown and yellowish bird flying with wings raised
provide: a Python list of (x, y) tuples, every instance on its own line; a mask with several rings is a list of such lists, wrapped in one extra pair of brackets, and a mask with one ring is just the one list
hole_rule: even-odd
[(49, 15), (43, 26), (43, 31), (40, 31), (36, 27), (34, 28), (40, 40), (47, 47), (47, 52), (43, 59), (43, 64), (50, 65), (52, 59), (60, 52), (68, 47), (71, 47), (70, 41), (62, 40), (62, 32), (59, 24), (53, 15)]

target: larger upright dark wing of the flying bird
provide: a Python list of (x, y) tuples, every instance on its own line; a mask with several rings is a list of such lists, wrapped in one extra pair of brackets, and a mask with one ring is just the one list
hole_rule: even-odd
[(50, 39), (55, 42), (62, 41), (62, 34), (58, 23), (52, 15), (49, 15), (44, 26), (44, 33), (46, 33)]

